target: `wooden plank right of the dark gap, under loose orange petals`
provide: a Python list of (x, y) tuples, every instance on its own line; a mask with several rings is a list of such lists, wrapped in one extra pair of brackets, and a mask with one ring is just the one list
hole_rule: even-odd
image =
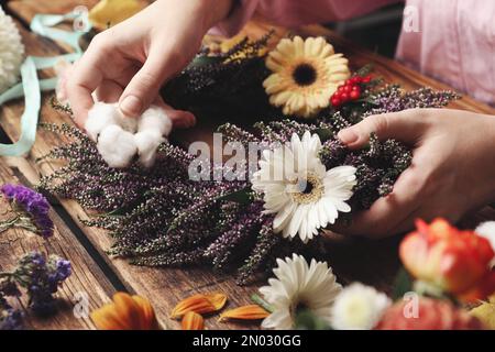
[[(54, 46), (41, 45), (37, 37), (21, 29), (24, 44), (30, 55), (58, 55), (61, 51)], [(42, 75), (43, 76), (43, 75)], [(44, 95), (41, 112), (42, 122), (72, 123), (70, 119), (54, 111), (48, 105), (50, 95)], [(6, 105), (0, 114), (0, 125), (11, 140), (16, 141), (20, 135), (19, 118), (22, 113), (22, 102)], [(64, 143), (64, 139), (43, 130), (38, 130), (36, 143), (28, 155), (28, 161), (41, 175), (53, 173), (59, 165), (56, 163), (35, 164), (35, 158), (48, 152), (53, 146)], [(87, 219), (86, 211), (76, 201), (61, 199), (61, 204), (72, 216), (74, 221)], [(114, 268), (119, 278), (128, 290), (147, 297), (157, 311), (158, 319), (164, 326), (178, 328), (179, 323), (168, 318), (173, 307), (185, 296), (201, 292), (222, 292), (229, 297), (230, 307), (250, 302), (250, 295), (255, 287), (239, 287), (232, 277), (213, 274), (209, 268), (178, 270), (150, 268), (130, 265), (125, 260), (109, 258), (105, 253), (112, 241), (106, 231), (87, 228), (81, 230), (95, 248), (105, 256), (109, 265)], [(254, 324), (218, 323), (217, 319), (208, 319), (207, 328), (254, 328)]]

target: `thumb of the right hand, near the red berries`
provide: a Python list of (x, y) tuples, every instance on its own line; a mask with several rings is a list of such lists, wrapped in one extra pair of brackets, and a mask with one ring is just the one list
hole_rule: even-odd
[(371, 116), (353, 127), (341, 130), (338, 138), (351, 148), (364, 146), (370, 141), (371, 133), (376, 133), (382, 141), (394, 139), (413, 143), (419, 138), (424, 125), (420, 116), (422, 113), (419, 109)]

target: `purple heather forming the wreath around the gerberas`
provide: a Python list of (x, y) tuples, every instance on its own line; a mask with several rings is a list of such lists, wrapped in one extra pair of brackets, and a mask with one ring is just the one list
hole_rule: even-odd
[[(370, 86), (363, 92), (366, 96), (363, 101), (339, 112), (323, 110), (310, 123), (297, 122), (284, 116), (277, 117), (276, 109), (267, 107), (267, 98), (260, 84), (266, 74), (264, 59), (250, 57), (243, 63), (257, 74), (243, 72), (244, 66), (239, 63), (228, 67), (228, 74), (223, 64), (202, 66), (196, 63), (168, 87), (169, 94), (177, 98), (175, 107), (180, 107), (182, 101), (185, 109), (190, 108), (195, 112), (207, 108), (202, 111), (205, 113), (215, 107), (221, 109), (217, 114), (246, 114), (248, 121), (254, 121), (261, 113), (272, 120), (277, 118), (272, 122), (256, 123), (254, 129), (231, 123), (219, 128), (226, 141), (241, 142), (245, 146), (256, 142), (263, 147), (272, 147), (289, 141), (293, 133), (317, 133), (322, 142), (320, 158), (327, 168), (352, 165), (358, 169), (358, 185), (350, 199), (353, 212), (369, 208), (392, 190), (397, 177), (409, 166), (411, 152), (396, 141), (378, 141), (375, 136), (372, 136), (367, 148), (351, 151), (338, 140), (337, 133), (372, 113), (438, 108), (457, 98), (454, 94), (431, 89), (404, 94), (395, 86)], [(245, 74), (245, 78), (239, 79), (232, 73)], [(235, 77), (235, 82), (229, 80), (232, 77)], [(239, 87), (239, 81), (243, 87), (237, 92), (239, 101), (226, 102), (226, 97), (232, 98), (231, 90)], [(261, 95), (251, 87), (257, 87)], [(219, 100), (218, 105), (212, 103)], [(256, 109), (244, 109), (248, 106)], [(239, 107), (243, 107), (242, 111)], [(195, 156), (178, 146), (163, 144), (151, 169), (143, 170), (136, 165), (112, 169), (101, 160), (95, 143), (77, 129), (67, 125), (50, 125), (47, 129), (72, 136), (74, 141), (56, 147), (46, 156), (65, 160), (67, 164), (44, 177), (40, 187), (61, 197), (77, 199), (85, 208), (103, 212), (87, 224), (110, 230), (114, 238), (110, 254), (128, 257), (139, 265), (209, 264), (222, 271), (238, 268), (239, 282), (246, 284), (257, 276), (255, 274), (271, 268), (276, 257), (293, 252), (307, 252), (316, 257), (322, 252), (319, 245), (321, 237), (310, 245), (304, 245), (298, 240), (286, 241), (274, 233), (273, 219), (263, 212), (263, 202), (251, 191), (249, 180), (190, 179), (188, 166)], [(211, 166), (216, 172), (228, 170), (227, 167)], [(235, 199), (228, 197), (232, 194), (239, 195), (233, 197)]]

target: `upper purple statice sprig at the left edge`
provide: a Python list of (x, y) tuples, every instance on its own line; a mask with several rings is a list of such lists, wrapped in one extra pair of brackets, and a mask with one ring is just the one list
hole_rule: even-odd
[(44, 239), (53, 235), (54, 224), (48, 216), (46, 198), (22, 185), (7, 184), (0, 187), (10, 204), (12, 217), (0, 222), (0, 232), (19, 227), (32, 231)]

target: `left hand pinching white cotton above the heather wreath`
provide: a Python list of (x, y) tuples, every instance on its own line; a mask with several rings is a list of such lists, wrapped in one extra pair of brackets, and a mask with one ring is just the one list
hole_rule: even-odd
[[(65, 82), (76, 123), (84, 127), (94, 105), (119, 101), (129, 117), (161, 103), (162, 85), (195, 56), (206, 32), (228, 15), (232, 0), (158, 0), (98, 34)], [(194, 116), (174, 114), (182, 125)]]

